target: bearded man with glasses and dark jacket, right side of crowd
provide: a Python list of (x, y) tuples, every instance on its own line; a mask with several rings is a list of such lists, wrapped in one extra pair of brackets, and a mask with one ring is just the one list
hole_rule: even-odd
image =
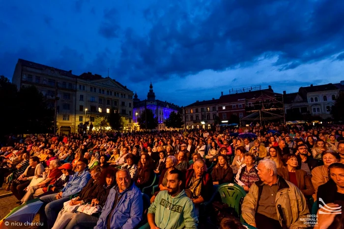
[(307, 175), (312, 176), (312, 170), (319, 166), (319, 160), (309, 157), (307, 146), (304, 144), (297, 146), (297, 167), (307, 172)]

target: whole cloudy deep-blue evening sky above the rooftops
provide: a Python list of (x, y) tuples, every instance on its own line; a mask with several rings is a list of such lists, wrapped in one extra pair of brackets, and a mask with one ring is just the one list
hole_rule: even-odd
[(344, 80), (343, 0), (0, 0), (0, 75), (18, 58), (187, 105), (231, 88)]

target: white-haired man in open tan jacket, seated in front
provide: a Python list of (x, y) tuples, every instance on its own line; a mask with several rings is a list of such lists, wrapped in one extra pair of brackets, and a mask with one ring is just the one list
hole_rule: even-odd
[(251, 186), (244, 198), (243, 219), (258, 229), (307, 228), (304, 222), (307, 222), (309, 210), (302, 192), (277, 175), (274, 161), (260, 160), (257, 169), (260, 180)]

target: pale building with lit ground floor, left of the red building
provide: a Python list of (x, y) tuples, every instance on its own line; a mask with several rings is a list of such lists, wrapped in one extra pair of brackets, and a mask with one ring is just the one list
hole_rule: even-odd
[(183, 121), (186, 129), (210, 129), (218, 116), (218, 101), (196, 101), (183, 109)]

